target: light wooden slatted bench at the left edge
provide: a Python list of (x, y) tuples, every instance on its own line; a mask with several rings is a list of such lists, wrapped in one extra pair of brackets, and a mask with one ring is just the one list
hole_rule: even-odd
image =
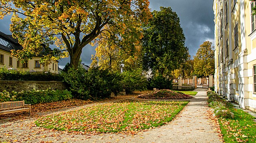
[[(28, 107), (25, 107), (25, 105)], [(24, 100), (0, 103), (0, 115), (24, 111), (29, 111), (30, 115), (30, 104), (24, 104)]]

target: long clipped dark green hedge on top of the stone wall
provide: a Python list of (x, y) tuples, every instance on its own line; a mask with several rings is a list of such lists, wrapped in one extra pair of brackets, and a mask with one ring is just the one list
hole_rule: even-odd
[(0, 67), (0, 80), (22, 80), (22, 81), (63, 81), (60, 74), (51, 72), (28, 72), (8, 70)]

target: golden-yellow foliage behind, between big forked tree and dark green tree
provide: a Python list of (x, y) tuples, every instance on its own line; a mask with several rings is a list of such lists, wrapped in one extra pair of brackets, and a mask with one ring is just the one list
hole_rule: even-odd
[[(109, 29), (109, 28), (108, 28)], [(118, 46), (110, 34), (98, 40), (95, 48), (95, 55), (92, 57), (92, 66), (100, 66), (101, 69), (120, 70), (121, 63), (125, 64), (125, 69), (141, 68), (141, 38), (142, 32), (124, 32), (125, 40), (123, 46)]]

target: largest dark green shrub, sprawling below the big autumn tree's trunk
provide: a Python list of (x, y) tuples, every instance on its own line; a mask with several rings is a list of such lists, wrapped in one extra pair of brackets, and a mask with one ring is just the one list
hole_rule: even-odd
[(111, 92), (121, 90), (121, 76), (107, 69), (92, 67), (86, 71), (82, 67), (70, 68), (62, 73), (65, 82), (69, 84), (73, 95), (78, 99), (93, 99), (110, 97)]

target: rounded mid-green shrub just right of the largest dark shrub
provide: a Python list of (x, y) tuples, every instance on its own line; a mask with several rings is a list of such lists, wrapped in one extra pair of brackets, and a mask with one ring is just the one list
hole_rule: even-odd
[(140, 70), (124, 71), (121, 77), (121, 85), (126, 90), (126, 93), (147, 89), (148, 80)]

